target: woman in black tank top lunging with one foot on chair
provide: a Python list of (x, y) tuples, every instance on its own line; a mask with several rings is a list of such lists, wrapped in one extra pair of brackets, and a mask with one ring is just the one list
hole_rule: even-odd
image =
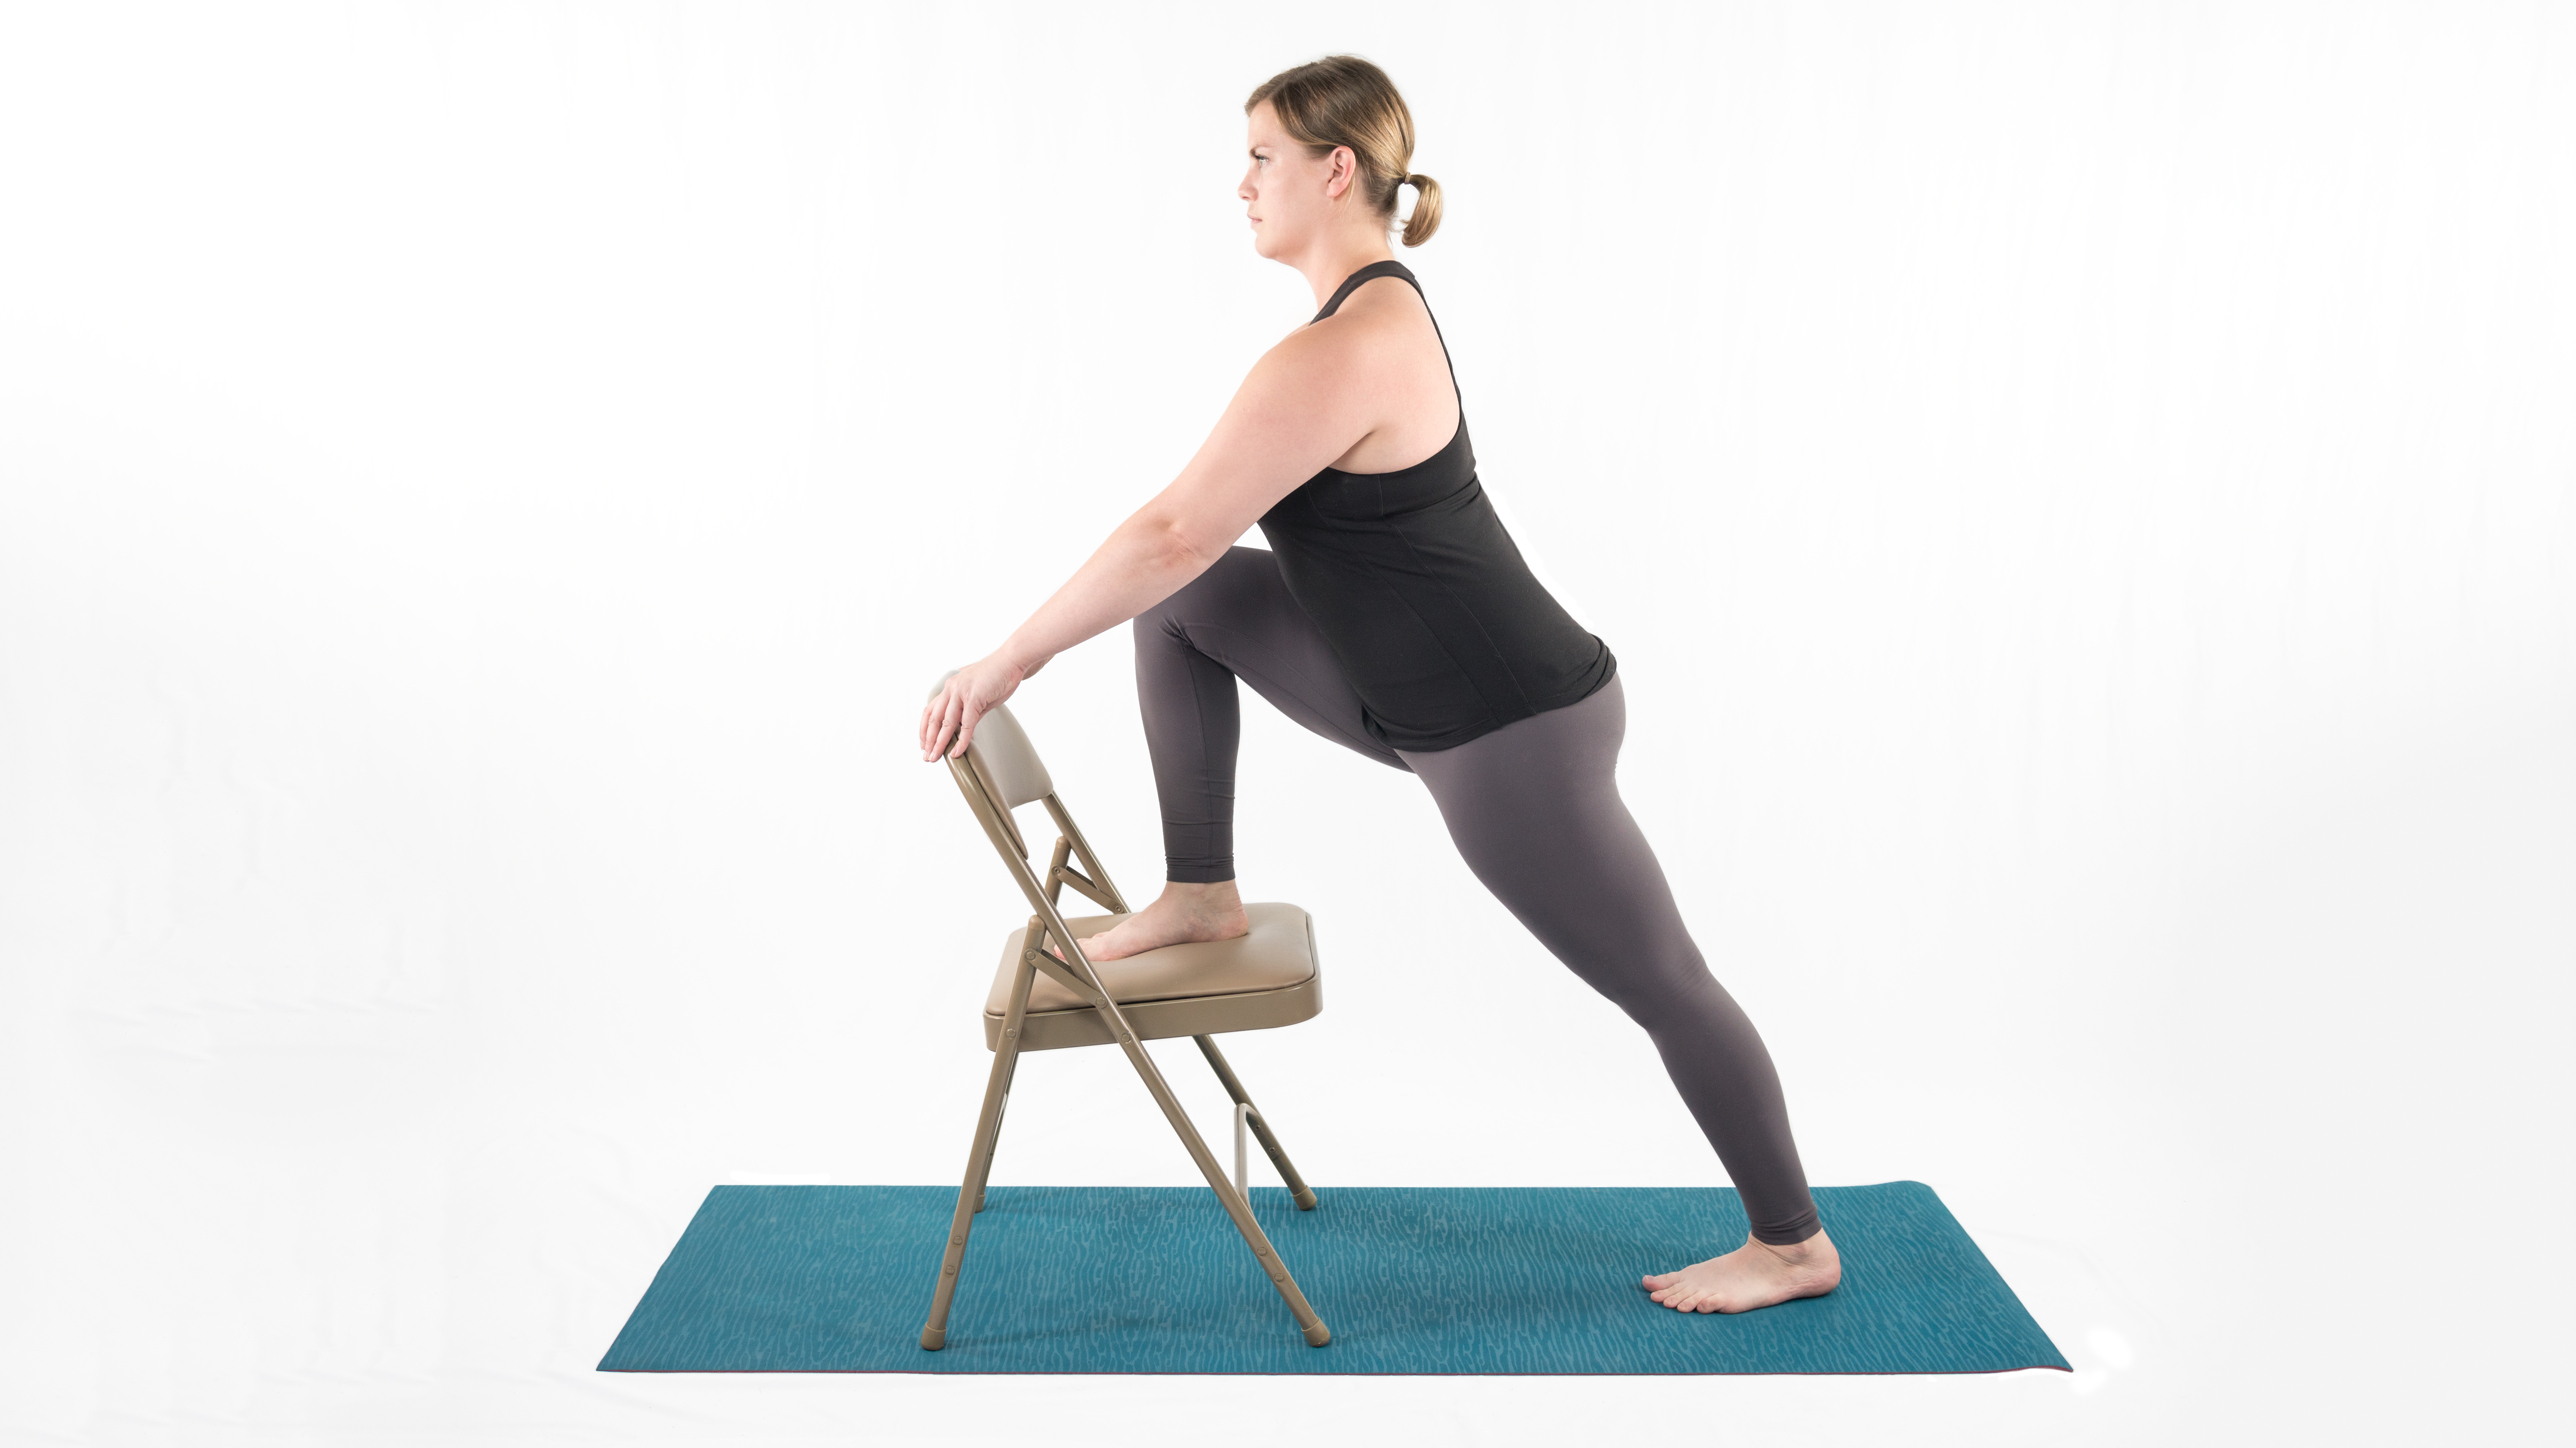
[[(1476, 482), (1448, 345), (1386, 234), (1440, 224), (1406, 167), (1412, 113), (1386, 72), (1327, 57), (1244, 103), (1252, 250), (1321, 309), (1270, 348), (1216, 430), (1028, 624), (922, 709), (922, 757), (1056, 652), (1136, 621), (1136, 688), (1167, 884), (1084, 940), (1115, 961), (1242, 935), (1234, 884), (1236, 691), (1430, 786), (1476, 879), (1646, 1028), (1744, 1196), (1734, 1252), (1649, 1275), (1654, 1301), (1747, 1311), (1842, 1281), (1816, 1221), (1780, 1077), (1708, 974), (1664, 871), (1620, 804), (1618, 660), (1538, 585)], [(1231, 546), (1260, 523), (1270, 551)]]

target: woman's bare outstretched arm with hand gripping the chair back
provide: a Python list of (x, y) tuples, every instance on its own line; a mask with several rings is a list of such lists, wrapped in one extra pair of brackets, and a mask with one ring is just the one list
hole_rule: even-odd
[(1262, 353), (1190, 466), (922, 709), (922, 757), (963, 755), (976, 719), (1046, 660), (1170, 598), (1273, 502), (1378, 428), (1391, 350), (1368, 327), (1306, 327)]

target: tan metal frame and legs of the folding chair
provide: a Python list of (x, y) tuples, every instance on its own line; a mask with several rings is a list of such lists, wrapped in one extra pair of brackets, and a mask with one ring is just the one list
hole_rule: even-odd
[[(997, 706), (992, 714), (1002, 714), (1002, 709)], [(992, 714), (987, 714), (987, 719), (992, 719)], [(1010, 721), (1010, 729), (1018, 732), (1018, 721)], [(1074, 824), (1074, 817), (1064, 809), (1064, 801), (1054, 788), (1038, 796), (1059, 830), (1056, 850), (1041, 884), (1038, 873), (1028, 863), (1028, 845), (1020, 837), (1010, 804), (1005, 804), (1005, 791), (994, 783), (994, 773), (984, 768), (979, 752), (979, 747), (969, 747), (963, 757), (951, 757), (948, 773), (956, 778), (958, 791), (974, 809), (976, 822), (984, 824), (984, 835), (992, 840), (994, 850), (999, 850), (1002, 863), (1010, 868), (1010, 879), (1020, 886), (1020, 894), (1028, 897), (1036, 915), (1028, 917), (1028, 928), (1020, 933), (1020, 974), (1010, 987), (1010, 1010), (1002, 1018), (1002, 1041), (992, 1054), (992, 1074), (984, 1082), (984, 1110), (976, 1116), (974, 1147), (966, 1154), (966, 1180), (958, 1185), (956, 1216), (948, 1221), (948, 1252), (940, 1260), (940, 1281), (935, 1296), (930, 1299), (930, 1322), (922, 1327), (922, 1348), (940, 1350), (948, 1345), (948, 1306), (956, 1299), (958, 1265), (966, 1260), (966, 1234), (974, 1226), (974, 1214), (984, 1211), (984, 1183), (992, 1175), (992, 1152), (1002, 1139), (1002, 1110), (1010, 1105), (1010, 1082), (1020, 1064), (1020, 1025), (1028, 1018), (1028, 992), (1036, 984), (1038, 971), (1046, 971), (1056, 984), (1074, 992), (1077, 1000), (1100, 1013), (1110, 1038), (1121, 1051), (1126, 1051), (1128, 1064), (1136, 1067), (1136, 1077), (1144, 1080), (1144, 1090), (1154, 1095), (1154, 1105), (1162, 1108), (1162, 1116), (1172, 1123), (1180, 1144), (1190, 1149), (1190, 1159), (1198, 1162), (1198, 1172), (1208, 1177), (1208, 1190), (1216, 1193), (1226, 1216), (1234, 1219), (1234, 1229), (1242, 1232), (1244, 1244), (1252, 1247), (1252, 1257), (1260, 1260), (1265, 1273), (1270, 1273), (1270, 1286), (1275, 1286), (1280, 1299), (1288, 1301), (1288, 1311), (1296, 1314), (1296, 1324), (1306, 1332), (1306, 1342), (1316, 1348), (1332, 1342), (1332, 1329), (1324, 1327), (1321, 1317), (1316, 1317), (1306, 1293), (1298, 1291), (1296, 1278), (1288, 1273), (1288, 1262), (1283, 1262), (1278, 1250), (1270, 1247), (1270, 1237), (1262, 1232), (1262, 1224), (1252, 1219), (1252, 1201), (1242, 1185), (1244, 1123), (1249, 1121), (1252, 1134), (1260, 1136), (1262, 1152), (1270, 1154), (1270, 1165), (1275, 1165), (1280, 1180), (1288, 1183), (1288, 1193), (1298, 1211), (1314, 1211), (1314, 1188), (1309, 1188), (1296, 1172), (1296, 1165), (1270, 1131), (1270, 1123), (1262, 1118), (1260, 1108), (1252, 1105), (1252, 1095), (1244, 1092), (1244, 1082), (1216, 1049), (1213, 1036), (1193, 1036), (1193, 1041), (1198, 1041), (1198, 1051), (1208, 1059), (1208, 1067), (1216, 1069), (1216, 1080), (1226, 1087), (1226, 1095), (1234, 1098), (1236, 1175), (1231, 1180), (1226, 1177), (1216, 1154), (1198, 1136), (1198, 1126), (1190, 1121), (1190, 1113), (1185, 1113), (1180, 1100), (1172, 1098), (1172, 1087), (1154, 1067), (1154, 1056), (1146, 1054), (1144, 1041), (1136, 1038), (1136, 1031), (1128, 1028), (1118, 1002), (1110, 1000), (1108, 989), (1100, 984), (1100, 971), (1092, 969), (1090, 956), (1082, 953), (1074, 933), (1066, 930), (1064, 915), (1056, 912), (1056, 899), (1064, 886), (1074, 886), (1077, 894), (1097, 902), (1113, 915), (1128, 912), (1126, 897), (1121, 897), (1118, 886), (1110, 884), (1110, 873), (1100, 866), (1100, 855), (1092, 853), (1090, 840), (1082, 837), (1082, 830)], [(1046, 783), (1054, 786), (1054, 781)], [(1082, 861), (1082, 868), (1074, 868), (1077, 858)], [(1046, 951), (1048, 940), (1061, 948), (1061, 958)]]

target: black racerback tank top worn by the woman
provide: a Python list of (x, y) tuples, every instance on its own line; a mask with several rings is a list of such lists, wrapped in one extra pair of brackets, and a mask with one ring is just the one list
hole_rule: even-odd
[[(1314, 322), (1396, 260), (1350, 273)], [(1430, 299), (1425, 296), (1425, 304)], [(1440, 335), (1440, 319), (1432, 319)], [(1448, 358), (1448, 338), (1440, 338)], [(1458, 363), (1450, 363), (1450, 392)], [(1448, 750), (1515, 719), (1589, 698), (1618, 672), (1520, 559), (1476, 482), (1466, 399), (1448, 446), (1409, 469), (1324, 469), (1262, 513), (1288, 595), (1360, 691), (1368, 732), (1396, 750)]]

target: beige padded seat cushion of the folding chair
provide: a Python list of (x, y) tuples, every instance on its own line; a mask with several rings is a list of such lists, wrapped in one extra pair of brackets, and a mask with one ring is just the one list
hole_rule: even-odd
[[(1231, 940), (1193, 940), (1164, 946), (1118, 961), (1092, 961), (1110, 1000), (1126, 1010), (1128, 1023), (1144, 1038), (1200, 1036), (1213, 1031), (1257, 1031), (1265, 1025), (1291, 1025), (1321, 1010), (1314, 953), (1314, 917), (1296, 904), (1255, 902), (1244, 904), (1252, 930)], [(1074, 940), (1087, 940), (1126, 915), (1082, 915), (1064, 925)], [(999, 1041), (1002, 1015), (1010, 1010), (1010, 987), (1020, 971), (1023, 930), (1002, 940), (1002, 964), (992, 974), (992, 992), (984, 997), (987, 1043)], [(1203, 1007), (1200, 1007), (1203, 1002)], [(1023, 1049), (1105, 1043), (1110, 1036), (1100, 1015), (1082, 1005), (1082, 997), (1038, 974), (1028, 989), (1028, 1038)]]

